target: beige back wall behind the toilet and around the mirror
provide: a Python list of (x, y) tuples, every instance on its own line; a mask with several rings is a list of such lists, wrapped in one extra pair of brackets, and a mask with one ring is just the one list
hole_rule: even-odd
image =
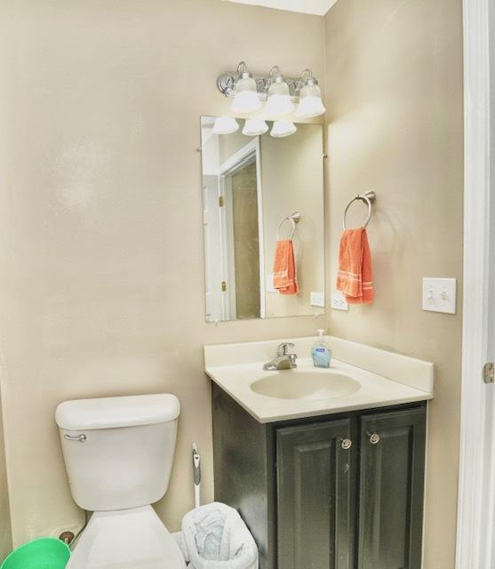
[(60, 401), (180, 397), (157, 506), (175, 529), (193, 505), (193, 441), (212, 498), (203, 344), (324, 326), (204, 322), (199, 117), (228, 109), (216, 77), (243, 59), (322, 76), (323, 19), (221, 0), (0, 4), (0, 341), (16, 544), (83, 519), (53, 421)]

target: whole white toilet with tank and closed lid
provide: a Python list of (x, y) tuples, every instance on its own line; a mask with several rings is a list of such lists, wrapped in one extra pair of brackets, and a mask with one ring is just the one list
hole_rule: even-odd
[(180, 415), (171, 394), (66, 401), (55, 418), (77, 505), (94, 512), (68, 569), (185, 569), (151, 504), (169, 485)]

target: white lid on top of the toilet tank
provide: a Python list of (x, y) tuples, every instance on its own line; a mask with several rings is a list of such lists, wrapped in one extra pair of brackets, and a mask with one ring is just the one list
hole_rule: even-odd
[(179, 414), (177, 397), (157, 393), (64, 401), (57, 407), (55, 421), (67, 430), (116, 429), (174, 421)]

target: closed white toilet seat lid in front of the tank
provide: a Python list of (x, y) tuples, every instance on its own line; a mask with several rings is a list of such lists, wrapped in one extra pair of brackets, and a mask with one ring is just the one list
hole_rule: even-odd
[(67, 569), (185, 569), (177, 542), (151, 506), (95, 512)]

